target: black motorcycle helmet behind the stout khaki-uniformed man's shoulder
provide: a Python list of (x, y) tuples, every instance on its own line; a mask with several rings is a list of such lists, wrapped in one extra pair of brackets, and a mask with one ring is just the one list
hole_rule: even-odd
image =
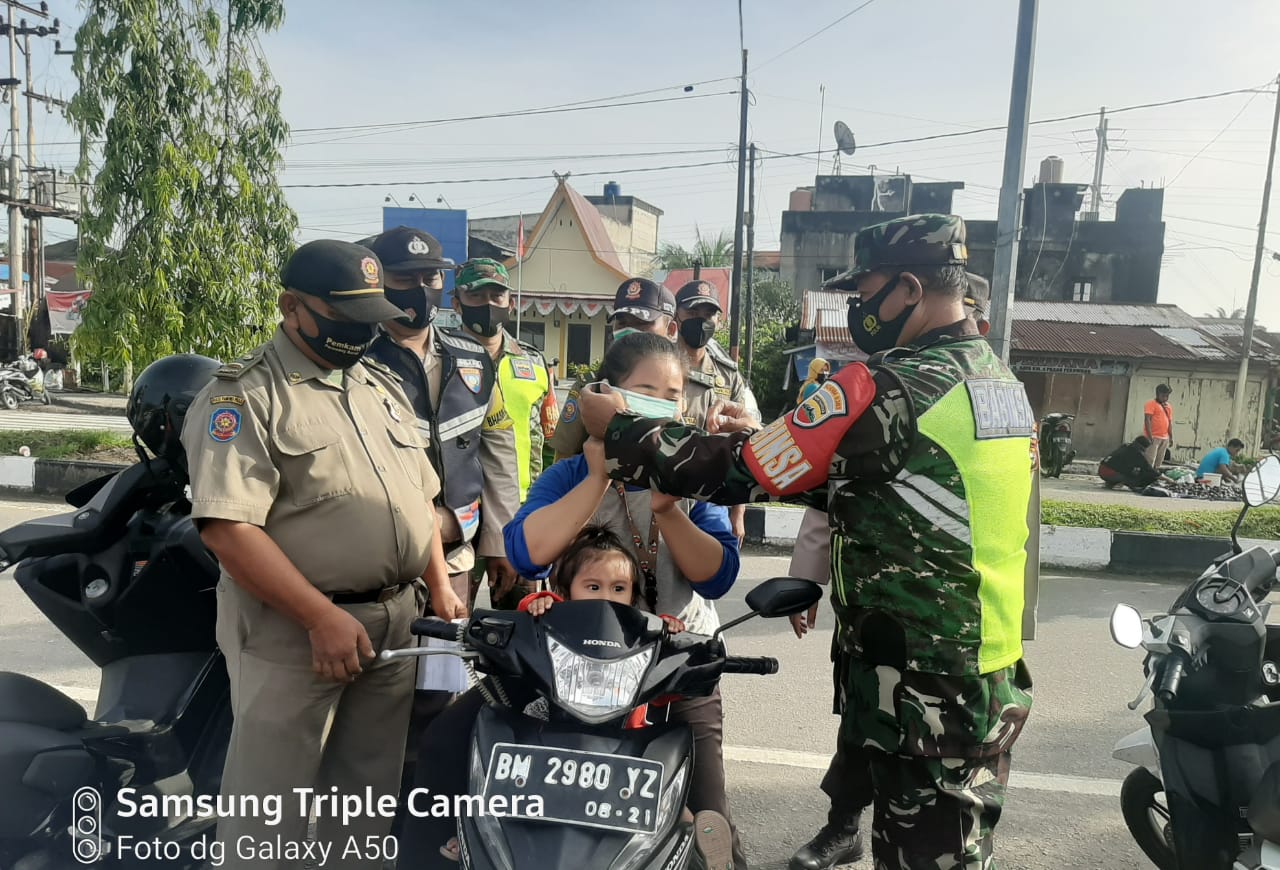
[[(182, 421), (196, 394), (209, 384), (221, 365), (198, 353), (175, 353), (143, 368), (133, 383), (128, 404), (124, 406), (124, 415), (133, 426), (134, 445), (141, 441), (152, 455), (166, 459), (186, 473)], [(146, 459), (141, 448), (138, 455)]]

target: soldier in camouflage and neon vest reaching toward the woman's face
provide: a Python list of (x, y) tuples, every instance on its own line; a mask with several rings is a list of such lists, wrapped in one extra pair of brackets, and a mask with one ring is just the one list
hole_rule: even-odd
[(993, 867), (1010, 750), (1030, 710), (1021, 615), (1032, 409), (963, 307), (964, 221), (869, 226), (850, 333), (872, 353), (750, 434), (640, 420), (586, 391), (611, 475), (721, 504), (826, 508), (841, 738), (868, 775), (877, 867)]

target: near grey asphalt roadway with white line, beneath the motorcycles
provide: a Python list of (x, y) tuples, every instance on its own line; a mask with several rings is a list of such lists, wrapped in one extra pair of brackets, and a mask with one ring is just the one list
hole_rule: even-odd
[[(0, 528), (49, 516), (59, 505), (0, 500)], [(742, 596), (787, 559), (753, 555), (722, 617), (745, 612)], [(1050, 574), (1042, 585), (1041, 637), (1028, 645), (1036, 708), (1015, 752), (1015, 771), (997, 835), (1001, 866), (1128, 870), (1148, 867), (1120, 819), (1125, 765), (1111, 759), (1116, 738), (1142, 724), (1125, 708), (1140, 684), (1140, 652), (1115, 646), (1107, 615), (1119, 601), (1144, 613), (1167, 605), (1176, 586), (1110, 574)], [(754, 621), (730, 635), (741, 655), (776, 655), (776, 677), (727, 677), (726, 755), (730, 795), (753, 866), (781, 870), (820, 824), (818, 783), (833, 746), (831, 612), (819, 631), (795, 640), (785, 623)], [(0, 574), (0, 669), (67, 687), (92, 704), (97, 672), (27, 601), (12, 572)], [(865, 825), (865, 820), (864, 820)], [(870, 867), (864, 860), (859, 867)]]

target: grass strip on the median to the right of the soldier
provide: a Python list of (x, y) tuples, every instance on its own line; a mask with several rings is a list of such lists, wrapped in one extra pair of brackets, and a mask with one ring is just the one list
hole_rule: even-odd
[[(1235, 510), (1149, 510), (1123, 504), (1083, 504), (1046, 500), (1041, 522), (1046, 526), (1108, 528), (1123, 532), (1164, 532), (1226, 537), (1235, 523)], [(1240, 535), (1280, 539), (1280, 508), (1256, 508), (1244, 518)]]

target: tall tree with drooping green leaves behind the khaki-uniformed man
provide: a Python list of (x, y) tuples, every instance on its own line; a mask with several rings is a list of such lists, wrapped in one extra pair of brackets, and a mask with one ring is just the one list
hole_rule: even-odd
[[(259, 33), (283, 0), (86, 0), (70, 116), (105, 139), (77, 258), (82, 358), (229, 360), (270, 335), (297, 217), (288, 127)], [(90, 178), (86, 159), (79, 168)]]

